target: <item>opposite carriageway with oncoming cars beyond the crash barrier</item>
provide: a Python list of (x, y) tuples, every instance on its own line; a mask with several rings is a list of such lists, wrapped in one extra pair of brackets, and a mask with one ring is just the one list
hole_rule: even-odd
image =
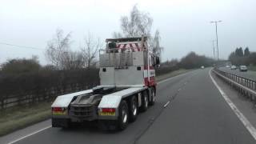
[(227, 73), (231, 73), (231, 74), (237, 74), (238, 76), (242, 76), (245, 78), (250, 78), (253, 80), (256, 80), (256, 71), (240, 71), (240, 70), (230, 70), (230, 68), (226, 68), (226, 67), (221, 67), (220, 70), (223, 70)]

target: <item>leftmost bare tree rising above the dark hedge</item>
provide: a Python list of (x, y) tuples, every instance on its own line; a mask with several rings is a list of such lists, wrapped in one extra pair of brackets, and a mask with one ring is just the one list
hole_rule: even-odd
[(54, 38), (47, 44), (46, 58), (58, 69), (64, 67), (62, 60), (65, 59), (65, 53), (70, 50), (70, 37), (70, 33), (64, 36), (63, 30), (58, 29)]

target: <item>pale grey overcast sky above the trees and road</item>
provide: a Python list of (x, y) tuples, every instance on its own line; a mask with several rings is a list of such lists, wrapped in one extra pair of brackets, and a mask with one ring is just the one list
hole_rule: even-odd
[(134, 4), (154, 19), (152, 32), (160, 31), (163, 60), (182, 58), (190, 51), (213, 57), (215, 27), (210, 21), (218, 20), (220, 58), (237, 46), (256, 51), (255, 0), (0, 0), (0, 43), (37, 48), (0, 44), (0, 62), (34, 54), (46, 64), (46, 43), (58, 28), (72, 32), (73, 50), (88, 31), (102, 41), (111, 38)]

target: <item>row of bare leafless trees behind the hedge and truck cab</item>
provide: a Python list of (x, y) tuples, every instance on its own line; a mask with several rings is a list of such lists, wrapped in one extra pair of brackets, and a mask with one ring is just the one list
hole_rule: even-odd
[[(129, 16), (120, 19), (121, 32), (114, 32), (113, 38), (148, 37), (149, 49), (159, 57), (163, 47), (160, 46), (160, 32), (151, 34), (153, 18), (149, 13), (138, 10), (133, 6)], [(96, 67), (98, 64), (98, 50), (103, 49), (103, 42), (88, 33), (78, 50), (71, 50), (71, 32), (64, 34), (63, 30), (56, 30), (46, 46), (46, 58), (52, 67), (58, 70), (76, 70)]]

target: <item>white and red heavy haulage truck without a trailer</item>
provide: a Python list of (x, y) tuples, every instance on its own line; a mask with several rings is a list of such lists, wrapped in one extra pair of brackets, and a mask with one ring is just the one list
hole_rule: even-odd
[(106, 39), (106, 50), (99, 53), (100, 86), (58, 96), (51, 106), (52, 126), (98, 121), (125, 129), (139, 110), (154, 105), (158, 65), (146, 37)]

